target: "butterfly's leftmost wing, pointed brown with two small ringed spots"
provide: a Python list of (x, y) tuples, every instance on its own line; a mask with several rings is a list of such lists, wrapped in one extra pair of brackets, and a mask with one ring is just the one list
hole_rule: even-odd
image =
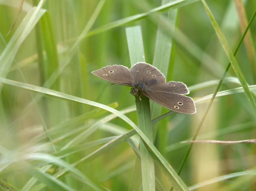
[(99, 70), (92, 71), (91, 73), (98, 76), (99, 78), (114, 82), (116, 84), (127, 86), (132, 86), (133, 84), (133, 79), (129, 69), (122, 65), (106, 66)]

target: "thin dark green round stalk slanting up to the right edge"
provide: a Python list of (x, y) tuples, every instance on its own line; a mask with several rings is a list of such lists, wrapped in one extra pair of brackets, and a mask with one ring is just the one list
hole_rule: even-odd
[[(249, 23), (248, 23), (248, 25), (247, 25), (247, 27), (246, 27), (246, 29), (245, 29), (245, 31), (244, 31), (244, 34), (242, 35), (241, 39), (239, 40), (239, 43), (238, 43), (238, 45), (237, 45), (237, 47), (236, 47), (236, 49), (235, 49), (235, 52), (234, 52), (234, 56), (237, 54), (238, 49), (240, 48), (240, 46), (241, 46), (241, 44), (242, 44), (242, 42), (243, 42), (243, 40), (244, 40), (244, 38), (245, 38), (245, 35), (246, 35), (247, 31), (249, 30), (249, 28), (250, 28), (250, 26), (251, 26), (251, 23), (253, 22), (255, 16), (256, 16), (256, 10), (254, 11), (253, 16), (251, 16), (251, 19), (250, 19), (250, 21), (249, 21)], [(206, 116), (207, 116), (207, 114), (208, 114), (208, 112), (209, 112), (209, 110), (210, 110), (210, 108), (211, 108), (211, 106), (212, 106), (212, 103), (213, 103), (213, 101), (214, 101), (214, 98), (216, 97), (216, 94), (218, 93), (218, 91), (219, 91), (219, 89), (220, 89), (220, 86), (221, 86), (221, 84), (222, 84), (222, 82), (223, 82), (223, 80), (224, 80), (224, 78), (225, 78), (225, 76), (226, 76), (226, 74), (227, 74), (227, 72), (228, 72), (228, 70), (229, 70), (230, 65), (231, 65), (231, 63), (229, 62), (228, 65), (227, 65), (227, 67), (226, 67), (226, 70), (225, 70), (225, 72), (224, 72), (224, 74), (223, 74), (223, 76), (222, 76), (222, 78), (220, 79), (220, 82), (219, 82), (217, 88), (215, 89), (215, 91), (214, 91), (214, 93), (213, 93), (213, 96), (212, 96), (212, 98), (211, 98), (211, 100), (210, 100), (210, 103), (208, 104), (208, 107), (207, 107), (207, 109), (206, 109), (206, 111), (205, 111), (205, 113), (204, 113), (203, 118), (202, 118), (201, 121), (200, 121), (200, 124), (198, 125), (198, 127), (197, 127), (197, 129), (196, 129), (196, 132), (195, 132), (195, 134), (194, 134), (192, 140), (195, 140), (195, 139), (196, 139), (196, 137), (197, 137), (197, 135), (198, 135), (198, 133), (199, 133), (199, 131), (200, 131), (202, 125), (203, 125), (203, 122), (204, 122), (204, 120), (205, 120), (205, 118), (206, 118)], [(185, 154), (185, 156), (184, 156), (184, 158), (183, 158), (183, 161), (182, 161), (182, 163), (181, 163), (181, 165), (180, 165), (180, 167), (179, 167), (179, 170), (178, 170), (178, 172), (177, 172), (178, 175), (179, 175), (180, 172), (182, 171), (183, 166), (184, 166), (184, 164), (185, 164), (185, 162), (186, 162), (186, 160), (187, 160), (187, 157), (188, 157), (188, 155), (189, 155), (189, 153), (190, 153), (191, 148), (192, 148), (193, 145), (194, 145), (194, 143), (191, 143), (191, 144), (189, 145), (189, 147), (188, 147), (188, 149), (187, 149), (187, 152), (186, 152), (186, 154)], [(170, 191), (172, 191), (172, 190), (173, 190), (173, 188), (170, 189)]]

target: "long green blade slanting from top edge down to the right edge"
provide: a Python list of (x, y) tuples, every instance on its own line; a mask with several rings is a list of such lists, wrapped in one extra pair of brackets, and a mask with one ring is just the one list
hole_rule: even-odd
[(204, 8), (205, 8), (210, 20), (211, 20), (211, 23), (213, 25), (215, 33), (217, 34), (217, 36), (220, 40), (220, 43), (222, 44), (222, 47), (223, 47), (224, 51), (226, 52), (226, 55), (227, 55), (227, 57), (228, 57), (228, 59), (231, 63), (231, 66), (233, 67), (233, 70), (234, 70), (237, 78), (239, 79), (243, 89), (245, 90), (245, 94), (246, 94), (246, 97), (247, 97), (247, 99), (250, 103), (251, 109), (253, 110), (253, 113), (256, 116), (256, 103), (255, 103), (255, 101), (254, 101), (254, 99), (253, 99), (253, 97), (252, 97), (252, 95), (249, 91), (249, 88), (248, 88), (248, 85), (246, 83), (245, 77), (242, 74), (242, 71), (241, 71), (241, 69), (240, 69), (240, 67), (237, 63), (237, 60), (236, 60), (235, 56), (233, 55), (233, 53), (231, 51), (231, 48), (229, 47), (228, 42), (227, 42), (225, 36), (223, 35), (218, 23), (214, 19), (208, 5), (206, 4), (206, 2), (204, 0), (202, 0), (202, 2), (203, 2)]

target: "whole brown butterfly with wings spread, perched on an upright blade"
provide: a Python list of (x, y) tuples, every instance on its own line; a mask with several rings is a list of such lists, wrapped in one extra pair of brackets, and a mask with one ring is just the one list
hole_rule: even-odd
[(196, 112), (194, 100), (184, 96), (189, 93), (187, 86), (182, 82), (166, 82), (165, 76), (150, 64), (139, 62), (130, 70), (122, 65), (106, 66), (91, 73), (115, 84), (130, 86), (134, 96), (140, 98), (142, 93), (167, 109), (185, 114)]

